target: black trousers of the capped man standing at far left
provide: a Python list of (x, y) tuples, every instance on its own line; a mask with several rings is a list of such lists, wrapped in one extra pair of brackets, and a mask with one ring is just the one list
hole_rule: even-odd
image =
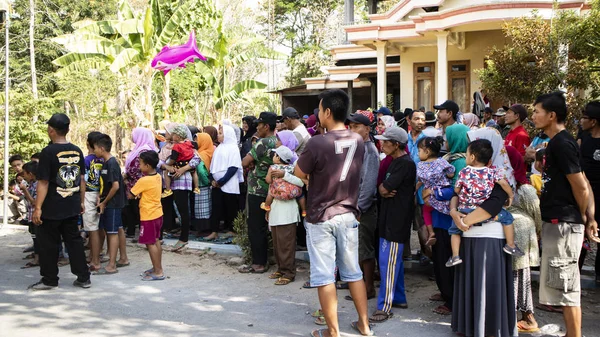
[(77, 275), (77, 280), (81, 282), (90, 279), (90, 271), (83, 252), (83, 239), (79, 235), (77, 220), (77, 216), (63, 220), (42, 219), (43, 223), (37, 228), (40, 274), (45, 285), (58, 285), (58, 246), (61, 236), (69, 252), (71, 272)]

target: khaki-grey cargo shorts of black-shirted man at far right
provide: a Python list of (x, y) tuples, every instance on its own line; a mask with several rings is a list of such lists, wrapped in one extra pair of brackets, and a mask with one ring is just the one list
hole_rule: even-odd
[(584, 226), (568, 222), (542, 224), (540, 303), (578, 307), (581, 304), (579, 254)]

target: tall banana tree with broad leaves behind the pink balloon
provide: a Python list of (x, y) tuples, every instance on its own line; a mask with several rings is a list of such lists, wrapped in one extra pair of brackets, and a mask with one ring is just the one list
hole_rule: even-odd
[[(169, 17), (164, 17), (166, 13), (161, 10), (161, 0), (151, 0), (143, 16), (136, 16), (129, 2), (121, 0), (117, 20), (82, 21), (74, 25), (77, 29), (72, 34), (54, 39), (67, 51), (53, 61), (61, 67), (58, 74), (108, 68), (123, 78), (139, 77), (143, 111), (137, 117), (142, 123), (153, 125), (152, 82), (157, 72), (150, 63), (163, 46), (178, 42), (183, 37), (180, 28), (198, 2), (187, 0)], [(168, 84), (168, 81), (165, 83)], [(167, 102), (163, 105), (166, 110), (168, 87), (163, 95)]]

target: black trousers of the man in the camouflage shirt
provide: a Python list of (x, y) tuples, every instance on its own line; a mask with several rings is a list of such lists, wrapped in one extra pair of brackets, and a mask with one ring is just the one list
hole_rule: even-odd
[[(260, 208), (260, 204), (266, 198), (257, 195), (248, 194), (248, 239), (250, 240), (250, 249), (252, 251), (252, 264), (267, 265), (267, 254), (269, 242), (267, 239), (267, 230), (269, 224), (265, 219), (265, 211)], [(213, 209), (214, 212), (214, 209)]]

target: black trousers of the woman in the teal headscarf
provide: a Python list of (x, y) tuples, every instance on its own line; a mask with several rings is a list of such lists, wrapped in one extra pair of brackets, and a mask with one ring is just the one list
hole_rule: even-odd
[(442, 228), (434, 228), (437, 242), (431, 247), (431, 261), (435, 283), (442, 294), (444, 305), (452, 310), (452, 296), (454, 294), (454, 269), (446, 267), (446, 261), (452, 256), (452, 245), (448, 231)]

